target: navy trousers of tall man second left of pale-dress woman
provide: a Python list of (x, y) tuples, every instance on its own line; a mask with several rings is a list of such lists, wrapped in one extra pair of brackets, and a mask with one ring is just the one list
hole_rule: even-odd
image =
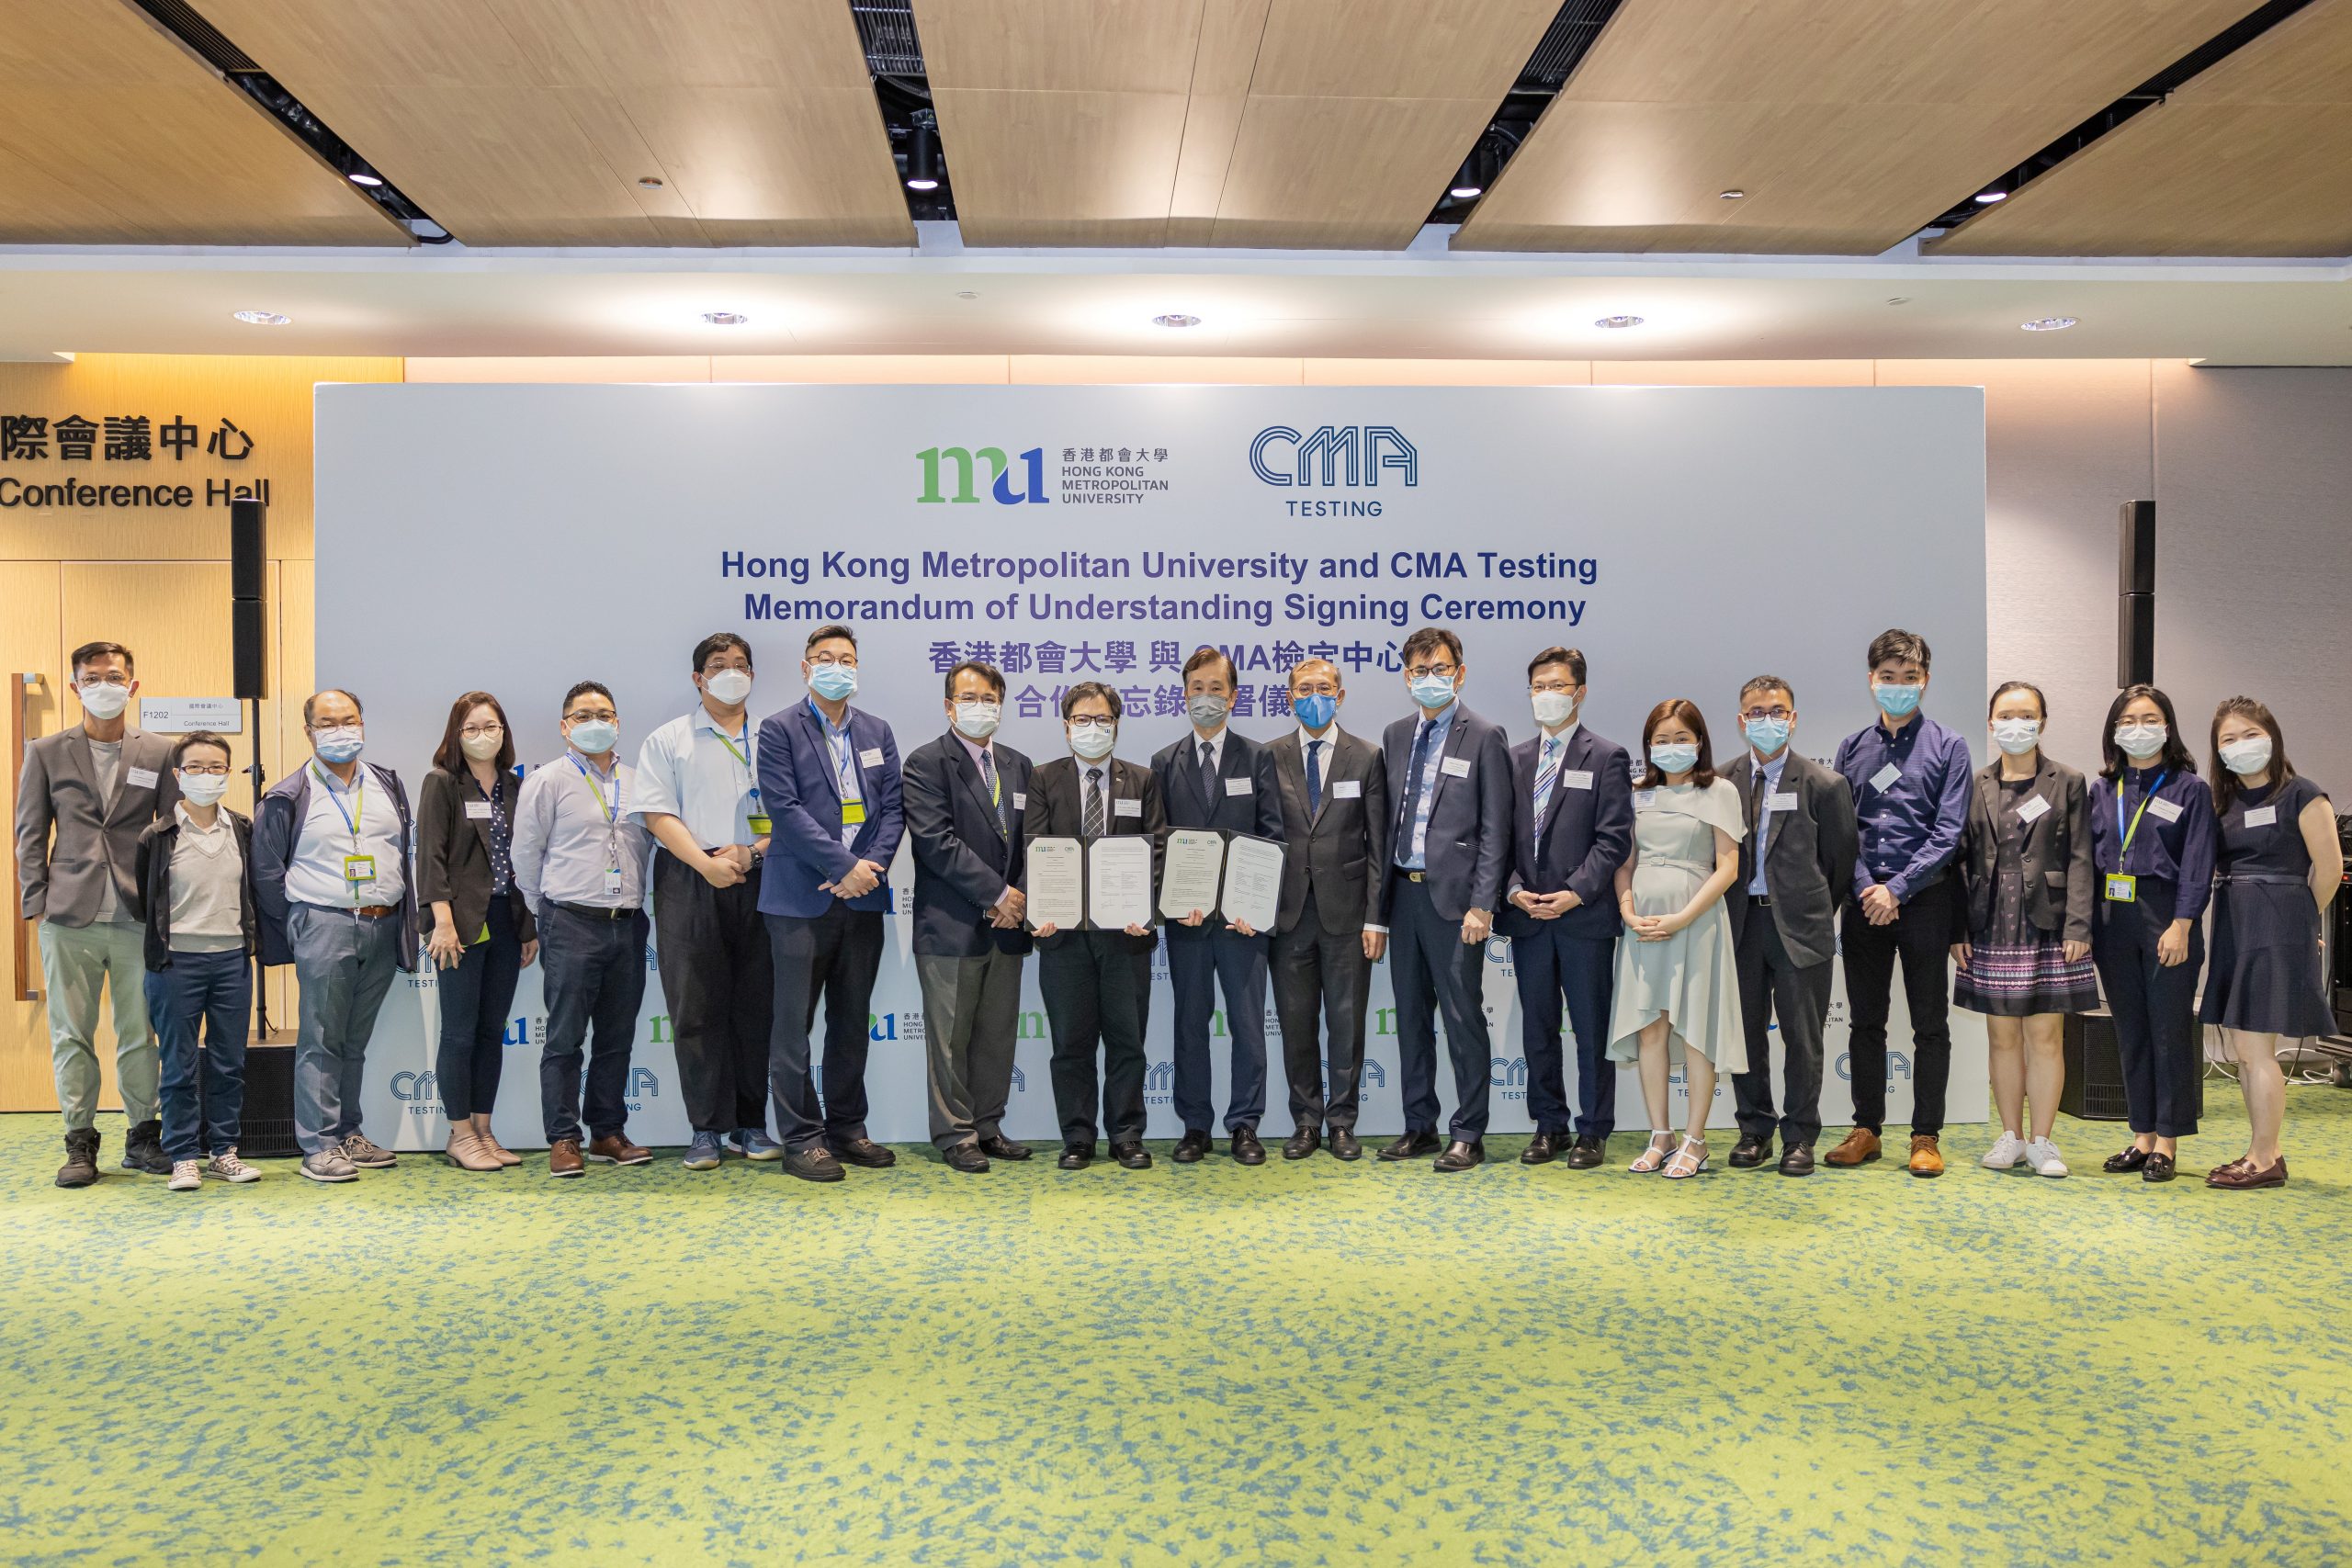
[(1494, 1039), (1486, 1030), (1486, 945), (1465, 943), (1463, 924), (1430, 903), (1430, 884), (1397, 877), (1388, 917), (1388, 957), (1397, 987), (1397, 1074), (1404, 1086), (1404, 1131), (1437, 1131), (1437, 1023), (1446, 1025), (1454, 1058), (1454, 1121), (1461, 1140), (1486, 1135), (1494, 1084)]

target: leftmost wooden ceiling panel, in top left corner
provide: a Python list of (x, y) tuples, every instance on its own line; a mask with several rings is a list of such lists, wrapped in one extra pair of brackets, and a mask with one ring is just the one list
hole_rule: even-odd
[(122, 0), (0, 0), (0, 242), (407, 244)]

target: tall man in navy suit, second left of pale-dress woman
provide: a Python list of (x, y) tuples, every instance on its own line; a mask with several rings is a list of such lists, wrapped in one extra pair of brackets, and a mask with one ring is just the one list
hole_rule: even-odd
[(1454, 632), (1425, 625), (1404, 639), (1404, 689), (1421, 710), (1381, 736), (1397, 802), (1381, 910), (1395, 947), (1397, 1070), (1404, 1135), (1381, 1159), (1432, 1154), (1437, 1143), (1437, 1020), (1454, 1056), (1451, 1143), (1439, 1171), (1486, 1159), (1486, 1030), (1482, 966), (1510, 863), (1510, 745), (1498, 724), (1461, 705), (1470, 679)]

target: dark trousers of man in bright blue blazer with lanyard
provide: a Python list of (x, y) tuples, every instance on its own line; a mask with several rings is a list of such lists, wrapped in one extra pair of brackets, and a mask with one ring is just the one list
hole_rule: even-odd
[[(882, 910), (851, 910), (835, 898), (814, 919), (769, 914), (767, 943), (776, 964), (776, 1023), (767, 1037), (776, 1140), (788, 1150), (854, 1143), (866, 1135), (866, 1044), (882, 969)], [(823, 1103), (809, 1063), (818, 1001), (826, 1004)]]

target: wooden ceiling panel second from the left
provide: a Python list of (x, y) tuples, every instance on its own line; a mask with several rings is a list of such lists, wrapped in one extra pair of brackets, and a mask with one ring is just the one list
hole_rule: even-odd
[(198, 5), (468, 244), (915, 237), (840, 0)]

